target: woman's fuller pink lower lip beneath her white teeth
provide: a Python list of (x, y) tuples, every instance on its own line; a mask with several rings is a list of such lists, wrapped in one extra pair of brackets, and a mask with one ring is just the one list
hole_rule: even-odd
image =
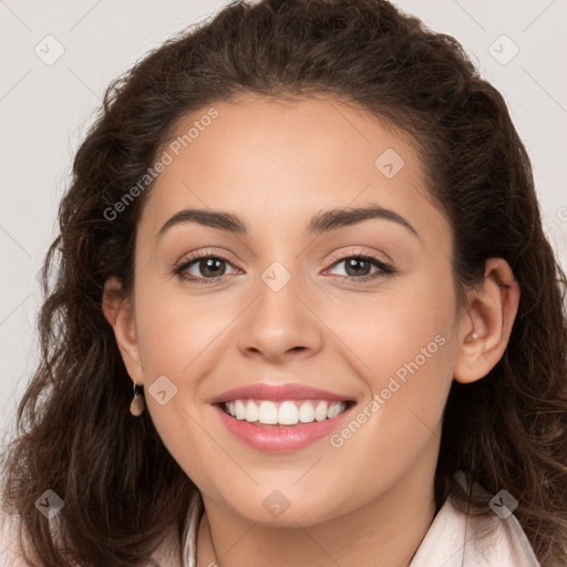
[(258, 451), (270, 452), (297, 451), (329, 436), (343, 421), (344, 415), (352, 410), (352, 406), (350, 406), (336, 417), (324, 421), (313, 421), (311, 423), (298, 423), (297, 425), (255, 425), (246, 420), (231, 417), (225, 413), (220, 405), (215, 404), (214, 408), (220, 421), (233, 435)]

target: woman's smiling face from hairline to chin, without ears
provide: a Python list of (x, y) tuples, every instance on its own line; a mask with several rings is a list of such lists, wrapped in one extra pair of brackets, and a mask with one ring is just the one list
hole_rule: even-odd
[(208, 110), (137, 231), (125, 362), (165, 445), (210, 503), (274, 525), (431, 487), (464, 318), (416, 153), (336, 100)]

